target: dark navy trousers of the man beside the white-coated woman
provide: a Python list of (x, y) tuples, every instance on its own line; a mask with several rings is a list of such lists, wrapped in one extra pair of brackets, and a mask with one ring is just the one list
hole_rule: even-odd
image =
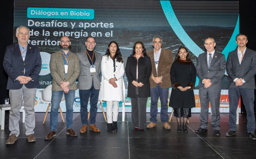
[(80, 114), (81, 114), (81, 121), (82, 125), (88, 124), (88, 102), (90, 98), (90, 124), (95, 124), (96, 115), (97, 115), (97, 103), (99, 98), (99, 89), (94, 89), (92, 87), (89, 90), (79, 90), (80, 96)]

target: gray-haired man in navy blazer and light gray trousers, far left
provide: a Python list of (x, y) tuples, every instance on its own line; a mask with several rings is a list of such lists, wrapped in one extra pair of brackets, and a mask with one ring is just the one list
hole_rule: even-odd
[(7, 89), (9, 90), (11, 110), (9, 130), (11, 131), (6, 144), (14, 144), (19, 135), (19, 110), (24, 102), (26, 112), (25, 127), (28, 142), (35, 142), (35, 96), (39, 87), (38, 75), (41, 71), (41, 57), (38, 47), (28, 44), (30, 32), (25, 26), (16, 30), (17, 44), (6, 48), (4, 69), (8, 74)]

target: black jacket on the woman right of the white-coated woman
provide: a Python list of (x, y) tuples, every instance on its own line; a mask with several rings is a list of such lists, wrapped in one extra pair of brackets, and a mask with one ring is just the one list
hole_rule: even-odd
[(137, 72), (137, 59), (135, 57), (128, 57), (125, 66), (125, 73), (128, 78), (128, 90), (127, 97), (130, 98), (146, 98), (150, 97), (150, 75), (151, 75), (152, 65), (150, 57), (144, 55), (138, 60), (138, 83), (144, 84), (142, 87), (138, 87), (138, 96), (136, 95), (136, 87), (132, 84), (136, 81)]

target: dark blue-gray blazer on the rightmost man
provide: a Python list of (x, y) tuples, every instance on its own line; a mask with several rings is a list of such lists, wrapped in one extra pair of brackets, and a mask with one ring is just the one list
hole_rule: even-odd
[(229, 52), (227, 57), (227, 74), (229, 87), (236, 88), (235, 78), (243, 78), (245, 83), (241, 88), (255, 89), (254, 75), (256, 74), (256, 51), (246, 48), (241, 64), (238, 59), (238, 49)]

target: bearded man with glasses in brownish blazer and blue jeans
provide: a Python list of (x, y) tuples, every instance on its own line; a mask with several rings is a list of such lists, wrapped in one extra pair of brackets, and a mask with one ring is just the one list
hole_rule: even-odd
[(50, 71), (52, 75), (52, 108), (50, 118), (50, 133), (45, 140), (51, 140), (56, 136), (58, 110), (61, 97), (64, 93), (66, 101), (66, 123), (67, 133), (72, 137), (77, 134), (72, 129), (73, 125), (73, 103), (75, 100), (75, 90), (77, 90), (76, 79), (80, 73), (79, 59), (70, 49), (70, 39), (63, 36), (60, 39), (61, 50), (51, 55)]

